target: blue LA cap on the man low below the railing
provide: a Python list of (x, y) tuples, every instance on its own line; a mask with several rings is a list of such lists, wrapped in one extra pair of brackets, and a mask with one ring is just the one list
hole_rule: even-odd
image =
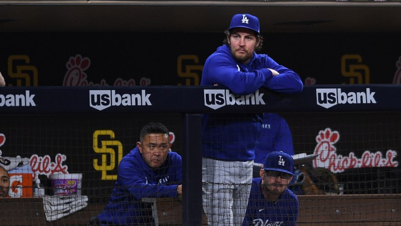
[(282, 151), (270, 152), (266, 156), (265, 164), (263, 165), (263, 170), (280, 171), (294, 175), (293, 157)]

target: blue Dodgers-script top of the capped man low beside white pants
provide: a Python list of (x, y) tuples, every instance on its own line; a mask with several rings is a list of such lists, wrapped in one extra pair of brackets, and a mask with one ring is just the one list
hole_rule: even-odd
[(290, 189), (285, 189), (276, 202), (269, 202), (262, 193), (262, 178), (253, 178), (242, 226), (295, 226), (298, 208), (298, 197)]

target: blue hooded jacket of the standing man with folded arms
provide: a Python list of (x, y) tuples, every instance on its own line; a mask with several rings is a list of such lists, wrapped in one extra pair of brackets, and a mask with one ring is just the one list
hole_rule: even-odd
[[(276, 70), (273, 76), (268, 69)], [(297, 73), (277, 64), (266, 54), (253, 54), (247, 64), (236, 62), (230, 48), (222, 45), (206, 60), (201, 86), (218, 84), (235, 95), (248, 95), (261, 87), (281, 93), (299, 93), (303, 84)], [(254, 159), (254, 148), (261, 133), (257, 114), (202, 115), (203, 157), (225, 161)]]

